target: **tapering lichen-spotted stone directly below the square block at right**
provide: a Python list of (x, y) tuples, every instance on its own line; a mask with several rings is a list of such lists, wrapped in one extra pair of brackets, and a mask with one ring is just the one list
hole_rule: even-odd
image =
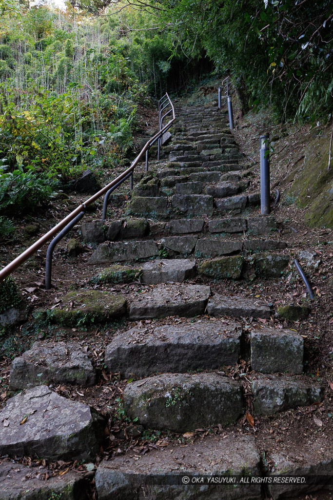
[(324, 387), (300, 378), (274, 375), (252, 377), (253, 408), (258, 415), (273, 415), (323, 400)]

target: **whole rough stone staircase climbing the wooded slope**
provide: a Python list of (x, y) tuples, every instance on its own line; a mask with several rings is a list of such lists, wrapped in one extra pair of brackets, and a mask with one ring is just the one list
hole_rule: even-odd
[[(169, 161), (151, 161), (123, 217), (82, 224), (83, 238), (98, 245), (88, 261), (91, 289), (67, 293), (47, 317), (68, 326), (127, 318), (131, 327), (105, 345), (104, 358), (106, 373), (132, 380), (123, 390), (123, 409), (139, 434), (145, 428), (168, 429), (186, 437), (214, 425), (227, 430), (240, 418), (318, 403), (324, 388), (302, 379), (301, 335), (251, 325), (253, 318), (270, 319), (272, 304), (221, 286), (237, 279), (246, 289), (257, 276), (277, 279), (290, 262), (275, 216), (258, 214), (260, 196), (251, 190), (255, 172), (226, 127), (226, 111), (179, 105), (176, 113), (173, 140), (164, 147)], [(119, 283), (125, 289), (134, 283), (134, 292), (108, 290)], [(39, 311), (36, 320), (45, 315)], [(151, 321), (155, 318), (164, 318), (163, 324)], [(235, 366), (238, 374), (230, 369)], [(0, 420), (8, 424), (0, 426), (0, 453), (94, 460), (106, 421), (47, 384), (87, 387), (97, 379), (78, 342), (36, 342), (15, 358), (10, 388), (24, 390), (1, 412)], [(95, 475), (99, 500), (260, 499), (265, 494), (260, 483), (200, 487), (163, 477), (299, 471), (290, 450), (287, 468), (281, 452), (268, 471), (255, 437), (235, 429), (230, 435), (205, 434), (192, 443), (155, 446), (139, 459), (129, 450), (103, 460)], [(311, 463), (312, 471), (325, 462), (332, 473), (333, 460), (324, 455)], [(304, 463), (304, 473), (307, 467)], [(157, 485), (146, 482), (151, 475)], [(302, 489), (290, 485), (281, 491), (272, 485), (266, 493), (275, 499)]]

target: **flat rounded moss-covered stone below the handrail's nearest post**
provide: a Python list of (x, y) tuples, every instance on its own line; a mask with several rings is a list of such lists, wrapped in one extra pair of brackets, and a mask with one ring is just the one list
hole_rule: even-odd
[(49, 314), (52, 321), (64, 326), (103, 323), (126, 313), (126, 298), (120, 294), (99, 290), (79, 290), (66, 293), (61, 305)]

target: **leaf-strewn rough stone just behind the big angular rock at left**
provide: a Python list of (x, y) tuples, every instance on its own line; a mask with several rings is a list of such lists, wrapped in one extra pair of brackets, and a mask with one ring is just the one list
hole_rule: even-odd
[(11, 363), (11, 390), (47, 383), (93, 385), (96, 373), (91, 361), (77, 342), (35, 342), (31, 349)]

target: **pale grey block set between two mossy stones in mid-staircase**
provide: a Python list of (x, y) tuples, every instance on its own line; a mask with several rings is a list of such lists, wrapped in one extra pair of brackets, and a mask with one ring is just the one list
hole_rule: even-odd
[(196, 275), (194, 260), (153, 260), (142, 266), (141, 282), (146, 284), (185, 281)]

